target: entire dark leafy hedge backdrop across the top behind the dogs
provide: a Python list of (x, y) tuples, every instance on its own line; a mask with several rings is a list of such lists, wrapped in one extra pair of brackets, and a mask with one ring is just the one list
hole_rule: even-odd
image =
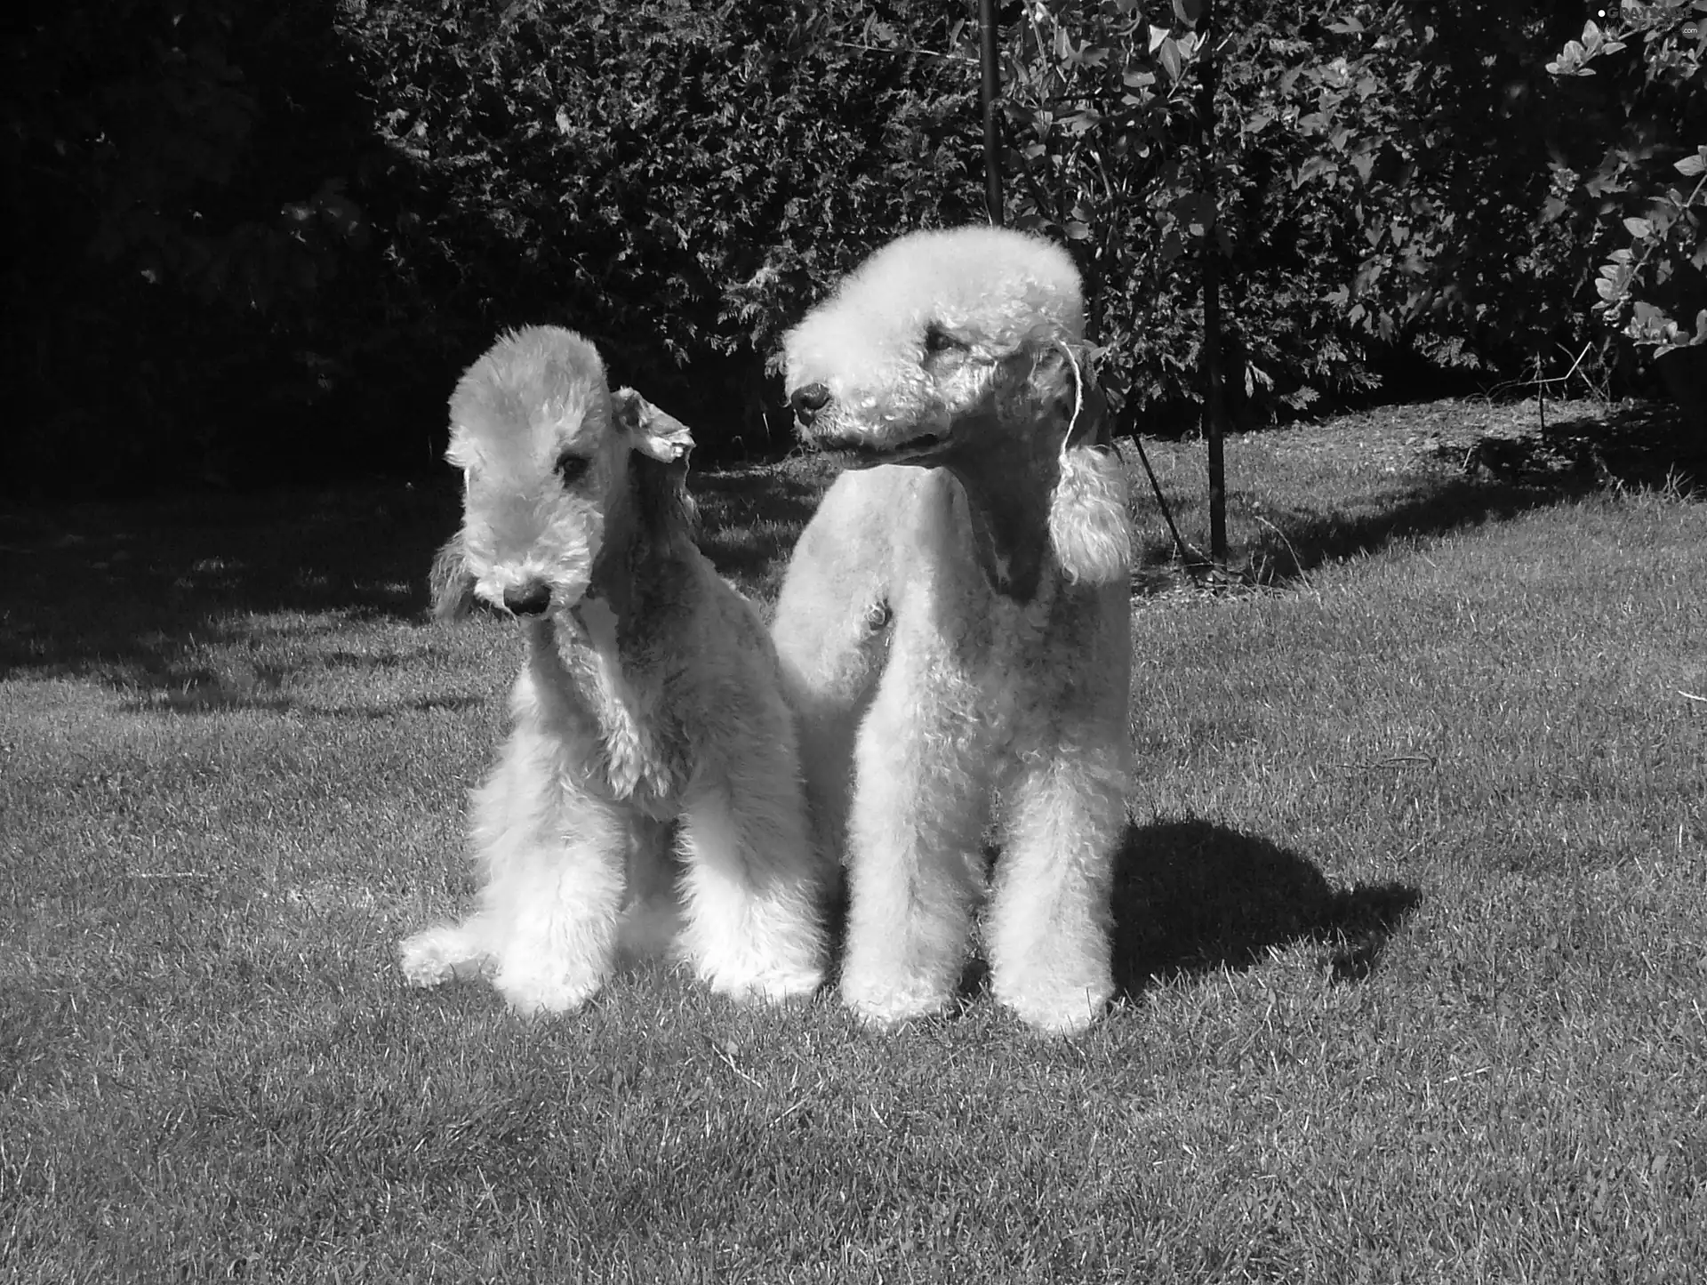
[[(435, 468), (457, 372), (522, 323), (586, 331), (702, 459), (775, 452), (782, 328), (888, 237), (983, 217), (970, 3), (15, 10), (12, 493)], [(1079, 254), (1128, 425), (1193, 413), (1209, 229), (1246, 423), (1562, 370), (1634, 217), (1690, 258), (1651, 176), (1700, 131), (1698, 56), (1564, 84), (1579, 3), (1459, 10), (1221, 0), (1205, 154), (1200, 0), (1002, 9), (1009, 213)]]

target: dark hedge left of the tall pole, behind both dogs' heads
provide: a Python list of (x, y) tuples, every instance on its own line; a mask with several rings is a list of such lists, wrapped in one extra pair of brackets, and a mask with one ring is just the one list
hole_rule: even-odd
[[(807, 15), (809, 17), (809, 15)], [(12, 490), (418, 468), (500, 326), (763, 445), (780, 326), (978, 195), (929, 5), (813, 41), (766, 0), (87, 0), (3, 111)], [(737, 440), (741, 439), (741, 440)]]

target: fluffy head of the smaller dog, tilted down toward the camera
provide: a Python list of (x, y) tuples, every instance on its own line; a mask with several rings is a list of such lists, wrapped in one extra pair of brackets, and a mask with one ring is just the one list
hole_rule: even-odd
[(517, 616), (574, 608), (615, 529), (685, 517), (691, 447), (686, 427), (640, 394), (613, 394), (574, 331), (505, 334), (451, 394), (446, 457), (463, 469), (463, 529), (434, 561), (437, 614), (476, 599)]

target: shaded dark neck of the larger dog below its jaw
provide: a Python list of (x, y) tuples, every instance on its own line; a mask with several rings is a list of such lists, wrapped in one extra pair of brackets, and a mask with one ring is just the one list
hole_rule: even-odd
[(997, 592), (1029, 602), (1050, 565), (1050, 497), (1060, 444), (1014, 432), (990, 411), (954, 427), (954, 445), (934, 462), (966, 491), (978, 565)]

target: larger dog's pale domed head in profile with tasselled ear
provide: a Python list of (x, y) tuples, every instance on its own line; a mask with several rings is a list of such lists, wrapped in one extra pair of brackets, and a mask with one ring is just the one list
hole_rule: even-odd
[(1070, 580), (1127, 575), (1125, 469), (1098, 449), (1108, 403), (1058, 246), (990, 227), (901, 237), (784, 336), (782, 365), (807, 444), (944, 466), (975, 495), (1034, 486)]

